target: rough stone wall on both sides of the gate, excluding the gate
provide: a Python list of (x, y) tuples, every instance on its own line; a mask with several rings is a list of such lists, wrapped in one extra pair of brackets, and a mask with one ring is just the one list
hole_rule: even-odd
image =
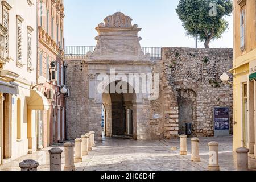
[[(150, 101), (148, 107), (137, 105), (134, 117), (143, 125), (134, 123), (134, 132), (141, 136), (146, 133), (149, 137), (144, 139), (174, 139), (179, 137), (179, 122), (191, 122), (193, 136), (212, 136), (214, 106), (228, 106), (233, 134), (233, 89), (220, 81), (220, 75), (232, 68), (232, 61), (232, 49), (162, 48), (162, 60), (151, 63), (152, 73), (160, 77), (159, 98)], [(67, 87), (71, 89), (67, 98), (68, 138), (75, 139), (90, 130), (100, 133), (96, 126), (100, 125), (102, 105), (88, 99), (88, 64), (81, 60), (67, 63)]]

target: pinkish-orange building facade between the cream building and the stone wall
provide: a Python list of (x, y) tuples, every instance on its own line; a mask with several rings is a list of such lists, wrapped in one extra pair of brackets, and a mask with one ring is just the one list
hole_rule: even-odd
[(46, 79), (38, 86), (45, 93), (49, 110), (40, 111), (42, 146), (63, 142), (65, 139), (65, 98), (61, 88), (64, 77), (64, 2), (37, 0), (38, 8), (38, 69), (37, 77)]

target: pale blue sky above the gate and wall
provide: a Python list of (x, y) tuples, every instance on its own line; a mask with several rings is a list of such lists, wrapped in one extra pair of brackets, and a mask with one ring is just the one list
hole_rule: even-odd
[[(141, 46), (144, 47), (195, 47), (195, 39), (186, 36), (176, 14), (179, 0), (64, 0), (64, 36), (66, 46), (95, 46), (95, 27), (106, 16), (121, 11), (142, 28)], [(232, 17), (229, 30), (222, 38), (210, 43), (210, 47), (233, 46)], [(199, 43), (204, 47), (204, 43)]]

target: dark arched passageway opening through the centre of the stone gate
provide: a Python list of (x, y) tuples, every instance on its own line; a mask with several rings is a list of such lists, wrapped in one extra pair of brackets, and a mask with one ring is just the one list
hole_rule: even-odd
[[(122, 93), (110, 92), (110, 86), (115, 88), (122, 85), (127, 85), (127, 91)], [(106, 137), (123, 137), (135, 139), (135, 125), (133, 111), (136, 109), (134, 101), (136, 100), (135, 93), (129, 93), (131, 86), (127, 82), (115, 81), (110, 83), (102, 94), (102, 118), (104, 119), (104, 135)], [(122, 89), (122, 88), (121, 88)], [(126, 89), (125, 89), (126, 90)]]

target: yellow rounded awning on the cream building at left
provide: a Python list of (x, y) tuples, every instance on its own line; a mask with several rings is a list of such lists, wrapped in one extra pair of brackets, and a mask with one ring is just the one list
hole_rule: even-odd
[(27, 98), (27, 106), (31, 110), (49, 110), (46, 96), (36, 90), (30, 90), (30, 97)]

